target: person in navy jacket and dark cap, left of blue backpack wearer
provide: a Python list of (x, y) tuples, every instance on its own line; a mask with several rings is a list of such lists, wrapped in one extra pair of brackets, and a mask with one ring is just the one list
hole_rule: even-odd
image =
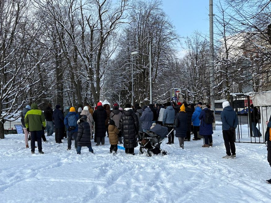
[(54, 128), (55, 128), (55, 142), (60, 144), (62, 143), (61, 139), (63, 137), (63, 128), (64, 128), (64, 115), (60, 110), (60, 105), (56, 105), (54, 112), (53, 112), (53, 121), (54, 121)]

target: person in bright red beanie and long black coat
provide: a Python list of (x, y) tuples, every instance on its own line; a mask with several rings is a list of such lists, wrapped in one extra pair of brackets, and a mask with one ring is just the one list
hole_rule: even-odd
[(105, 145), (105, 120), (107, 119), (107, 112), (103, 108), (101, 102), (98, 102), (97, 109), (93, 112), (93, 120), (95, 122), (95, 137), (97, 140), (96, 146)]

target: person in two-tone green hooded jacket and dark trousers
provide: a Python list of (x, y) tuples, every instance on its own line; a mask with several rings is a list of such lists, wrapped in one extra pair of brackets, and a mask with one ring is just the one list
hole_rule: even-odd
[(31, 110), (25, 114), (24, 123), (31, 137), (31, 154), (35, 154), (35, 140), (38, 142), (39, 153), (44, 154), (41, 146), (41, 135), (42, 130), (45, 130), (46, 121), (43, 112), (38, 109), (37, 104), (31, 104)]

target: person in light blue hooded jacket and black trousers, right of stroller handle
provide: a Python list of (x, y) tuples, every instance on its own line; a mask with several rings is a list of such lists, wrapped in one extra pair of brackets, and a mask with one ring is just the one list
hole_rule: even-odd
[[(171, 106), (170, 102), (166, 103), (166, 109), (164, 111), (163, 115), (163, 125), (167, 125), (168, 132), (170, 132), (173, 127), (169, 125), (174, 124), (174, 118), (175, 118), (175, 110)], [(168, 142), (166, 143), (168, 145), (174, 144), (174, 131), (171, 132), (171, 135), (168, 137)]]

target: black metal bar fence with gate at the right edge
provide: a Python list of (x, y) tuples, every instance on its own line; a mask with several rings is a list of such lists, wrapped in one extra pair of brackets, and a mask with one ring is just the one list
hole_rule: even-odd
[(265, 143), (263, 131), (266, 125), (263, 120), (271, 106), (253, 107), (250, 97), (244, 94), (231, 95), (230, 104), (238, 116), (235, 142)]

